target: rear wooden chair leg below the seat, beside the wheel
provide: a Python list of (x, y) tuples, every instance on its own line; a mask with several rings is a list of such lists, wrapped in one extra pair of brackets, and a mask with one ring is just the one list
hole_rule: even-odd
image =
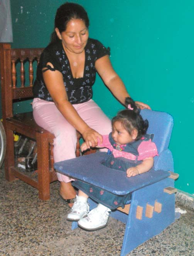
[(11, 167), (15, 166), (13, 131), (10, 129), (6, 129), (6, 137), (7, 149), (5, 155), (5, 178), (8, 181), (13, 181), (15, 179), (15, 176), (11, 171)]

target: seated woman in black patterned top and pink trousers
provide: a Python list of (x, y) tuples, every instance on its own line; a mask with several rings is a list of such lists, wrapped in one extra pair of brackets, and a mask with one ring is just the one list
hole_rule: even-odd
[[(107, 49), (90, 39), (86, 11), (76, 3), (64, 3), (55, 17), (51, 44), (44, 49), (34, 83), (33, 114), (39, 126), (55, 135), (54, 162), (75, 157), (76, 130), (86, 145), (95, 147), (98, 138), (111, 131), (111, 121), (92, 100), (96, 71), (113, 95), (124, 104), (130, 97), (113, 70)], [(148, 105), (136, 102), (140, 108)], [(76, 192), (72, 179), (57, 173), (60, 195), (70, 207)]]

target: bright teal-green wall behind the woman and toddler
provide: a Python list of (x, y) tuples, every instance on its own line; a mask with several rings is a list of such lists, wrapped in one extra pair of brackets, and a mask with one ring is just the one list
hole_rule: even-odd
[[(194, 194), (194, 1), (74, 2), (88, 11), (90, 37), (110, 46), (113, 67), (131, 96), (174, 117), (170, 149), (175, 172), (180, 174), (175, 186)], [(45, 47), (54, 27), (56, 9), (62, 3), (11, 0), (13, 47)], [(110, 118), (122, 108), (99, 78), (94, 85), (94, 100)], [(29, 103), (25, 108), (30, 108)], [(16, 112), (20, 109), (20, 104), (15, 106)]]

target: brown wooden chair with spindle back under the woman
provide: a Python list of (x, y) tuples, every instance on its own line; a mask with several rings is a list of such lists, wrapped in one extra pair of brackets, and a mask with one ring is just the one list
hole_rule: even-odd
[[(13, 181), (16, 178), (21, 179), (38, 189), (40, 199), (48, 200), (50, 198), (50, 183), (57, 180), (52, 157), (52, 141), (54, 135), (35, 123), (32, 112), (13, 115), (13, 102), (33, 98), (33, 63), (34, 61), (39, 62), (42, 50), (43, 48), (11, 49), (10, 44), (1, 43), (0, 72), (3, 125), (7, 137), (5, 177), (8, 181)], [(24, 66), (26, 67), (27, 63), (28, 70), (25, 70)], [(17, 64), (20, 65), (19, 68), (17, 68)], [(29, 85), (27, 85), (28, 81), (25, 81), (25, 71), (29, 73)], [(20, 81), (17, 79), (19, 76)], [(20, 86), (19, 82), (21, 84)], [(28, 175), (17, 167), (17, 161), (14, 155), (13, 132), (35, 140), (37, 143), (38, 177), (36, 179), (33, 175)], [(77, 137), (76, 156), (79, 156), (79, 138), (81, 135), (77, 133)]]

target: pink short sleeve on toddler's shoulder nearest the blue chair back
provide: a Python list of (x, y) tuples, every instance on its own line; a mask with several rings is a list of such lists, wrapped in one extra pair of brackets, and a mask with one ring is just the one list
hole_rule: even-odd
[(139, 153), (138, 160), (143, 160), (147, 157), (155, 157), (158, 155), (158, 150), (154, 142), (151, 140), (143, 141), (137, 148)]

